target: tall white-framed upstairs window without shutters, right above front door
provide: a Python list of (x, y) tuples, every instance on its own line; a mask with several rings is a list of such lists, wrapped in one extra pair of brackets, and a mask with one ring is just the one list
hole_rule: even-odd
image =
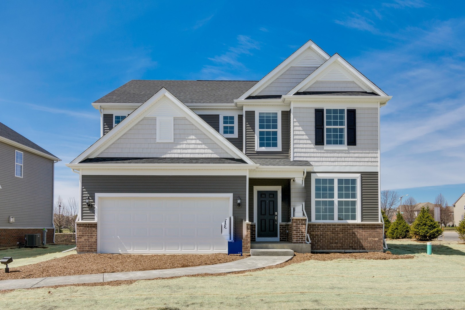
[(280, 151), (281, 115), (279, 112), (257, 112), (255, 118), (256, 128), (256, 149), (260, 151)]

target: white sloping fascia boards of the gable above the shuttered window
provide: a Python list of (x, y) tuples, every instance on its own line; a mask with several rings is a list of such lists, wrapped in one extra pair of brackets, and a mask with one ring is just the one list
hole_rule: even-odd
[(340, 65), (344, 66), (347, 71), (352, 73), (352, 75), (359, 79), (360, 82), (364, 83), (366, 86), (372, 88), (372, 90), (376, 93), (378, 93), (380, 96), (386, 96), (388, 95), (383, 92), (378, 86), (376, 86), (372, 81), (367, 79), (365, 75), (359, 72), (359, 70), (355, 69), (350, 63), (348, 63), (344, 58), (342, 58), (338, 53), (335, 53), (334, 55), (331, 56), (330, 59), (328, 59), (323, 65), (319, 66), (315, 71), (313, 71), (309, 76), (307, 76), (302, 82), (300, 82), (297, 86), (292, 88), (286, 95), (293, 95), (296, 92), (303, 91), (310, 87), (314, 82), (318, 80), (320, 76), (323, 75), (325, 70), (334, 64), (335, 62), (338, 62)]

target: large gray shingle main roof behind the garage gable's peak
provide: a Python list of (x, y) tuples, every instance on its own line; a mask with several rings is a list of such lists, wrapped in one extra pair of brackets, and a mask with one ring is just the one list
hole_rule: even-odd
[(133, 79), (94, 103), (143, 104), (165, 87), (184, 104), (232, 104), (257, 82)]

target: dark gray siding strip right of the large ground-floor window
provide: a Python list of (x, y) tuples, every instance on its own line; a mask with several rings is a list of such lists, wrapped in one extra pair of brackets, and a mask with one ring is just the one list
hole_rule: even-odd
[(362, 172), (362, 222), (379, 222), (378, 172)]

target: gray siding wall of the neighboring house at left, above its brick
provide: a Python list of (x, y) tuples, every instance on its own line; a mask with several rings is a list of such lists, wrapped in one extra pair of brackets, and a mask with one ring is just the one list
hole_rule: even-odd
[[(23, 152), (23, 178), (14, 176), (15, 150)], [(0, 158), (0, 228), (52, 227), (53, 160), (3, 142)]]

